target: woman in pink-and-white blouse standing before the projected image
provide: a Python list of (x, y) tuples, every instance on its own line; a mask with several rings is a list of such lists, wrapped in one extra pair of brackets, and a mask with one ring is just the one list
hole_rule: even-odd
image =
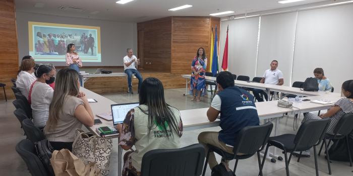
[[(76, 70), (80, 74), (80, 68), (82, 67), (82, 60), (77, 52), (75, 52), (75, 45), (70, 43), (66, 51), (66, 64), (69, 68)], [(80, 76), (80, 85), (82, 86), (82, 77)]]

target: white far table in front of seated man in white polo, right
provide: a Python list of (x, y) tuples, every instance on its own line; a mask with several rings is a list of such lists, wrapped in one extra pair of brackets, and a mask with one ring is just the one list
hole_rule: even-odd
[[(188, 86), (190, 85), (190, 82), (188, 81), (188, 79), (190, 79), (191, 75), (183, 74), (182, 77), (186, 78), (185, 95), (188, 95)], [(205, 79), (206, 81), (216, 81), (216, 77), (212, 77), (212, 76), (205, 76)], [(260, 82), (251, 82), (251, 81), (248, 82), (243, 80), (234, 80), (234, 84), (240, 87), (249, 87), (253, 89), (264, 90), (267, 92), (267, 95), (270, 95), (270, 92), (272, 91), (275, 93), (294, 94), (294, 95), (305, 96), (305, 97), (321, 96), (326, 94), (340, 96), (339, 93), (331, 93), (331, 92), (324, 92), (324, 91), (309, 92), (309, 91), (303, 91), (301, 88), (298, 88), (298, 87), (265, 84)], [(276, 96), (277, 94), (273, 94), (273, 95)], [(270, 96), (268, 96), (268, 99), (269, 97)], [(276, 97), (274, 99), (276, 99)]]

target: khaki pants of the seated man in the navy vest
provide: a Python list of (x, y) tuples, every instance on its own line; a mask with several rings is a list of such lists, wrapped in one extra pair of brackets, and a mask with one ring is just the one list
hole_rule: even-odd
[[(208, 152), (207, 144), (213, 145), (215, 147), (222, 149), (223, 151), (225, 151), (227, 153), (233, 154), (233, 147), (226, 146), (224, 142), (221, 142), (218, 140), (218, 132), (205, 131), (205, 132), (200, 133), (199, 137), (197, 139), (199, 140), (199, 143), (205, 147), (206, 156), (207, 156), (207, 152)], [(225, 162), (228, 164), (229, 161), (225, 160)], [(208, 159), (208, 165), (212, 169), (217, 164), (218, 164), (218, 162), (216, 160), (214, 152), (211, 152), (209, 159)]]

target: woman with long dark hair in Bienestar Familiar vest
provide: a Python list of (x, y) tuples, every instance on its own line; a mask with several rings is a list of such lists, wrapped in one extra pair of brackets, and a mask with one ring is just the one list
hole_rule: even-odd
[(130, 110), (123, 124), (116, 129), (120, 133), (119, 145), (135, 151), (124, 155), (123, 175), (140, 175), (143, 155), (153, 149), (179, 148), (183, 123), (178, 109), (164, 100), (163, 85), (154, 77), (146, 78), (139, 94), (140, 106)]

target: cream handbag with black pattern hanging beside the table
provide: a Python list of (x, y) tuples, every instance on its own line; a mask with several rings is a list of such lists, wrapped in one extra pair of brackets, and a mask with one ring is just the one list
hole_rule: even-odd
[(102, 175), (109, 173), (111, 150), (111, 138), (102, 138), (95, 135), (89, 136), (89, 134), (82, 129), (75, 130), (72, 153), (82, 159), (85, 164), (90, 162), (97, 164)]

